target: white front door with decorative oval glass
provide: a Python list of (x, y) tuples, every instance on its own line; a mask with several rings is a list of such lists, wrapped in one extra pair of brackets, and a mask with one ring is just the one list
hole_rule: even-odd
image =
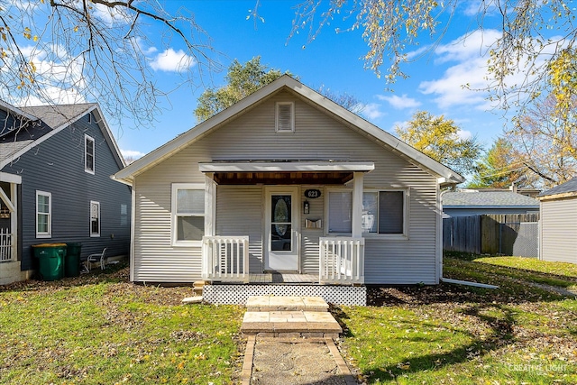
[(298, 188), (267, 188), (265, 270), (299, 270), (298, 213)]

